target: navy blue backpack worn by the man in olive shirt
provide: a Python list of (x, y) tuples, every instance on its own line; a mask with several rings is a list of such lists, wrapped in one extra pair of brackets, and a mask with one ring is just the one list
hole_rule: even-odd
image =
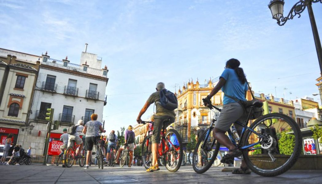
[(160, 102), (156, 103), (160, 103), (162, 107), (170, 111), (173, 111), (176, 108), (178, 108), (177, 97), (173, 92), (170, 92), (166, 89), (160, 90)]

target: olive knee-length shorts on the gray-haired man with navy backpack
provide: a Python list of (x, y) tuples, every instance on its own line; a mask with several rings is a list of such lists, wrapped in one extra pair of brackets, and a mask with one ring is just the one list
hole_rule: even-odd
[(164, 125), (166, 129), (171, 123), (175, 122), (175, 118), (171, 116), (155, 116), (153, 123), (153, 131), (152, 131), (152, 143), (160, 143), (160, 133), (161, 129)]

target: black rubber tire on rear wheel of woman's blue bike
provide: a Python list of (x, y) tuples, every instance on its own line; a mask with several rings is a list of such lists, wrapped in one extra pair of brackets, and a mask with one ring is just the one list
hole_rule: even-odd
[[(280, 118), (285, 120), (287, 123), (289, 123), (289, 125), (292, 128), (292, 131), (294, 133), (295, 136), (295, 146), (294, 146), (294, 150), (293, 150), (293, 154), (290, 156), (289, 160), (286, 161), (282, 166), (280, 166), (279, 168), (276, 169), (271, 169), (271, 170), (263, 170), (263, 169), (257, 169), (251, 162), (250, 157), (248, 155), (248, 149), (242, 150), (243, 152), (243, 157), (244, 157), (244, 161), (246, 162), (247, 166), (249, 169), (251, 169), (254, 173), (261, 175), (261, 176), (266, 176), (266, 177), (271, 177), (271, 176), (277, 176), (280, 175), (284, 172), (286, 172), (287, 170), (289, 170), (294, 164), (295, 162), (298, 160), (298, 157), (301, 153), (301, 149), (302, 149), (302, 136), (300, 134), (300, 129), (297, 125), (297, 123), (290, 118), (289, 116), (285, 115), (285, 114), (281, 114), (281, 113), (270, 113), (270, 114), (266, 114), (261, 116), (260, 118), (258, 118), (256, 121), (254, 121), (250, 128), (256, 128), (257, 125), (260, 124), (260, 122), (263, 122), (269, 118)], [(254, 130), (254, 129), (253, 129)], [(242, 145), (247, 145), (247, 141), (248, 141), (248, 137), (250, 136), (251, 131), (246, 131), (245, 132), (245, 136), (242, 137)]]

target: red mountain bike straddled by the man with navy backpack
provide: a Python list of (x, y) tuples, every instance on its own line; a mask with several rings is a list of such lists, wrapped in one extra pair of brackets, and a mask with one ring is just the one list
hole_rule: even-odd
[[(141, 123), (152, 123), (153, 127), (152, 121), (141, 121)], [(163, 131), (161, 131), (160, 133), (161, 139), (158, 150), (158, 162), (160, 163), (160, 165), (164, 163), (168, 171), (176, 172), (180, 168), (183, 159), (183, 145), (181, 136), (175, 129), (169, 129), (168, 131), (166, 131), (165, 128), (165, 124), (163, 124)], [(177, 137), (179, 146), (173, 145), (173, 143), (170, 141), (170, 137), (173, 134)], [(152, 152), (151, 149), (149, 149), (149, 144), (151, 145), (151, 138), (151, 135), (145, 137), (141, 146), (142, 162), (146, 169), (148, 169), (152, 164)]]

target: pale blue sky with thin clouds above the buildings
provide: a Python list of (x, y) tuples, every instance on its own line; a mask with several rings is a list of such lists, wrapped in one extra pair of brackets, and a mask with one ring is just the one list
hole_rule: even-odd
[[(79, 63), (88, 43), (109, 68), (108, 131), (135, 125), (157, 82), (171, 91), (191, 78), (203, 83), (230, 58), (240, 60), (255, 92), (312, 97), (320, 70), (308, 12), (279, 26), (269, 1), (0, 0), (0, 47)], [(296, 2), (285, 2), (284, 15)], [(322, 5), (313, 11), (322, 35)]]

